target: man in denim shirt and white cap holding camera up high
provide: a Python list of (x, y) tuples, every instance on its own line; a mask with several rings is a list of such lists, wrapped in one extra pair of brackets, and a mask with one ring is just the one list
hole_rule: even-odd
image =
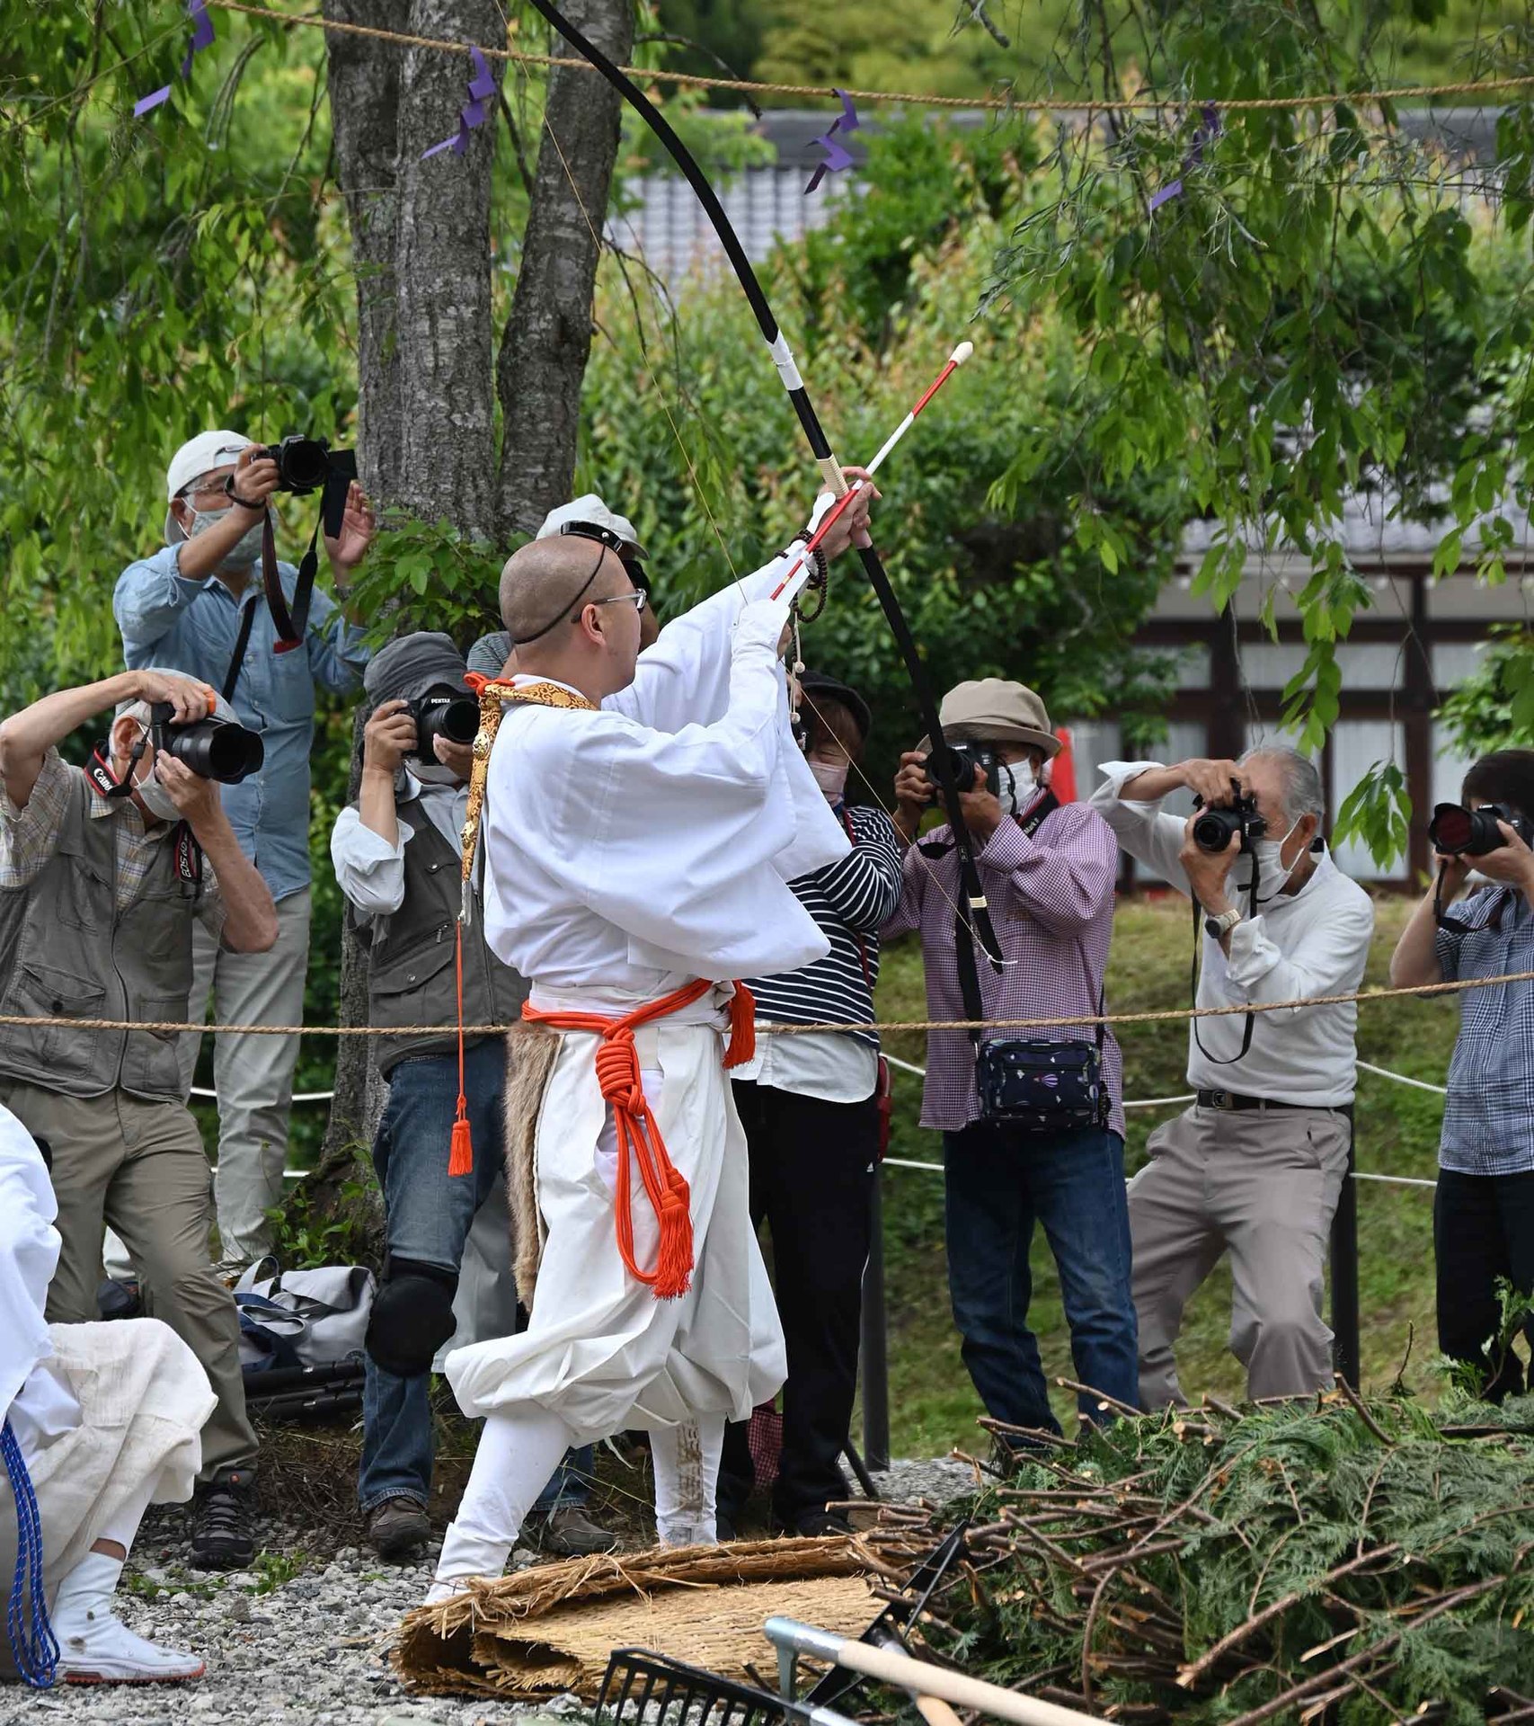
[[(257, 459), (259, 457), (259, 459)], [(226, 482), (231, 482), (226, 487)], [(278, 488), (276, 463), (235, 432), (204, 432), (176, 450), (167, 473), (166, 547), (131, 563), (117, 578), (112, 609), (131, 670), (183, 671), (226, 694), (242, 725), (261, 732), (266, 763), (224, 787), (224, 811), (240, 849), (255, 863), (278, 908), (278, 939), (267, 953), (221, 953), (198, 935), (192, 1018), (214, 996), (219, 1024), (286, 1024), (304, 1015), (309, 961), (309, 756), (316, 685), (350, 694), (368, 649), (335, 602), (317, 589), (304, 647), (276, 652), (276, 627), (261, 583), (261, 528)], [(317, 509), (309, 499), (305, 509)], [(338, 594), (373, 539), (373, 513), (357, 485), (345, 520), (324, 549)], [(278, 564), (292, 602), (297, 570)], [(250, 614), (243, 654), (236, 654)], [(238, 659), (238, 663), (236, 663)], [(233, 670), (233, 682), (229, 673)], [(188, 1036), (181, 1070), (192, 1087), (200, 1037)], [(297, 1037), (217, 1037), (217, 1219), (229, 1265), (271, 1246), (266, 1212), (281, 1203)]]

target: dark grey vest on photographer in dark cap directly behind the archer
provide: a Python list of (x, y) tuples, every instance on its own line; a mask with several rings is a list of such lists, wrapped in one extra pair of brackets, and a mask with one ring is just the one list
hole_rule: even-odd
[[(406, 806), (414, 837), (406, 849), (406, 896), (374, 937), (368, 960), (368, 1018), (373, 1025), (440, 1025), (426, 1037), (373, 1039), (380, 1074), (407, 1055), (450, 1055), (457, 1049), (457, 972), (454, 929), (462, 860), (426, 811)], [(485, 942), (485, 918), (464, 930), (464, 1024), (514, 1025), (528, 986), (502, 965)]]

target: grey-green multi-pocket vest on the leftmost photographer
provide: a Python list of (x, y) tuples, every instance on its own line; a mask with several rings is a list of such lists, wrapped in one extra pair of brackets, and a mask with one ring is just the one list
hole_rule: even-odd
[[(128, 816), (91, 820), (95, 792), (85, 773), (71, 780), (55, 854), (26, 887), (0, 889), (0, 1013), (185, 1022), (202, 887), (181, 879), (167, 835), (119, 911), (117, 823)], [(183, 1098), (174, 1032), (0, 1025), (0, 1077), (64, 1096)]]

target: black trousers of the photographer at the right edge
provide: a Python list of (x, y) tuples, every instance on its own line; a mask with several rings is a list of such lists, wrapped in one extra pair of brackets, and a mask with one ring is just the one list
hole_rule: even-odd
[[(1498, 1279), (1534, 1293), (1534, 1174), (1465, 1175), (1439, 1169), (1432, 1205), (1437, 1346), (1482, 1369), (1487, 1402), (1524, 1393), (1524, 1365), (1499, 1348)], [(1534, 1345), (1534, 1319), (1524, 1324)], [(1487, 1345), (1491, 1345), (1487, 1355)]]

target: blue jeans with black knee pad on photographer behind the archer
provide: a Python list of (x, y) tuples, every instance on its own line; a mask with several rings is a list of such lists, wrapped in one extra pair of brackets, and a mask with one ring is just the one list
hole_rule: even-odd
[[(421, 1055), (390, 1074), (388, 1103), (373, 1141), (373, 1167), (383, 1189), (388, 1250), (400, 1258), (440, 1265), (457, 1274), (475, 1212), (495, 1184), (500, 1167), (500, 1093), (506, 1049), (499, 1039), (464, 1051), (464, 1096), (475, 1136), (475, 1172), (449, 1177), (447, 1150), (457, 1115), (457, 1056)], [(371, 1510), (385, 1498), (431, 1495), (430, 1372), (397, 1377), (368, 1357), (362, 1389), (362, 1467), (357, 1498)], [(544, 1488), (537, 1510), (583, 1503), (594, 1467), (587, 1445), (573, 1450)]]

